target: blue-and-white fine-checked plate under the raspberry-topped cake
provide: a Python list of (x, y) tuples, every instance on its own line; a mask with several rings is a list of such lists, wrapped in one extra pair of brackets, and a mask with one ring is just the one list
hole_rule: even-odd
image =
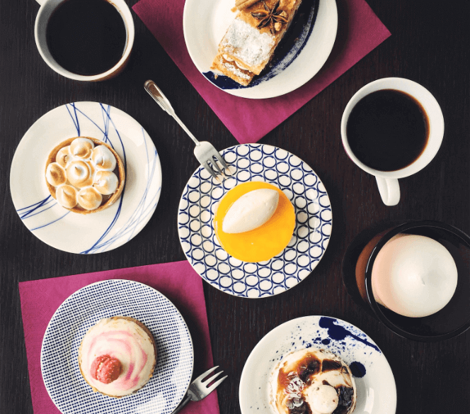
[[(78, 359), (88, 329), (116, 315), (144, 323), (157, 347), (154, 375), (144, 388), (122, 398), (93, 392)], [(188, 390), (193, 360), (190, 332), (173, 303), (150, 286), (120, 279), (99, 281), (69, 296), (47, 325), (41, 349), (42, 379), (63, 414), (170, 414)]]

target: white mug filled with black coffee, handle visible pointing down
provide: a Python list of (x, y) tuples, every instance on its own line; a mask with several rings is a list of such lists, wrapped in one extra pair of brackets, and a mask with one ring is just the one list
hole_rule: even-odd
[(403, 78), (363, 86), (341, 119), (348, 157), (377, 179), (386, 206), (400, 201), (399, 178), (419, 172), (435, 157), (444, 136), (444, 117), (425, 87)]

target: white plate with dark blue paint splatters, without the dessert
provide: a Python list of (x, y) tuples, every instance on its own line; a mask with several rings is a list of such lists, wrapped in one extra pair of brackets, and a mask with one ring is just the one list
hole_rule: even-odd
[(241, 413), (274, 413), (269, 398), (271, 372), (283, 355), (308, 347), (326, 349), (349, 364), (357, 387), (354, 414), (395, 414), (394, 374), (379, 347), (354, 325), (318, 315), (289, 320), (254, 347), (241, 372)]

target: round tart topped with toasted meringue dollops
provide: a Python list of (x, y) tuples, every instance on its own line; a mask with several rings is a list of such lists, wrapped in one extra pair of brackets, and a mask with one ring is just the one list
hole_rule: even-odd
[(107, 143), (89, 137), (64, 140), (46, 162), (47, 188), (60, 206), (74, 213), (102, 211), (120, 197), (125, 169)]

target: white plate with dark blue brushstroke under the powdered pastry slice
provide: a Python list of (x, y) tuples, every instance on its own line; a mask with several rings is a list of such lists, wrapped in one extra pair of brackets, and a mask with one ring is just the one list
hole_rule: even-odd
[(336, 1), (304, 0), (269, 69), (248, 86), (229, 77), (216, 77), (210, 67), (220, 40), (238, 13), (231, 11), (233, 8), (233, 0), (186, 0), (183, 13), (183, 33), (191, 59), (209, 82), (229, 94), (251, 99), (287, 94), (314, 77), (333, 49), (338, 29)]

